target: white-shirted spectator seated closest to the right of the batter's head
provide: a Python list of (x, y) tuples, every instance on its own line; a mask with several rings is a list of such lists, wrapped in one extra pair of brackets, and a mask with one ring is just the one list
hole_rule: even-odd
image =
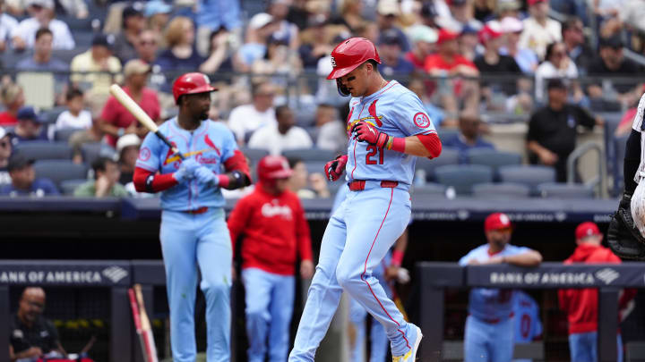
[(275, 88), (271, 83), (258, 83), (253, 88), (253, 102), (250, 105), (238, 105), (231, 111), (228, 128), (235, 134), (238, 145), (244, 146), (245, 137), (255, 130), (276, 124), (273, 97)]

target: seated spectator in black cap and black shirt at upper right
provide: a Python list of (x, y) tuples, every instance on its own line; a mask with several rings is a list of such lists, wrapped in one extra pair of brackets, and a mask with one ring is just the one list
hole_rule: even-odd
[[(618, 101), (625, 108), (638, 102), (641, 98), (641, 82), (634, 81), (633, 77), (639, 72), (641, 68), (624, 57), (623, 41), (619, 35), (600, 38), (599, 56), (589, 64), (589, 76), (623, 77), (624, 80), (614, 80), (610, 89), (603, 89), (600, 81), (592, 82), (587, 88), (592, 106), (594, 102), (599, 103), (603, 99)], [(613, 95), (611, 89), (614, 91)]]

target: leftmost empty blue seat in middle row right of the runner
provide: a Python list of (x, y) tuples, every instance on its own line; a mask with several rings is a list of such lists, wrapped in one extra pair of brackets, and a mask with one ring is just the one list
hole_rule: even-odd
[[(441, 157), (439, 157), (441, 158)], [(481, 164), (448, 164), (434, 170), (436, 181), (452, 186), (457, 195), (469, 195), (473, 185), (493, 181), (493, 169)]]

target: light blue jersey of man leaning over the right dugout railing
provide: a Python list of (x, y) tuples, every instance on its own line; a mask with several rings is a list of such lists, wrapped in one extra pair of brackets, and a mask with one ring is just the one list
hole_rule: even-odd
[[(491, 255), (488, 252), (488, 244), (484, 244), (470, 250), (465, 257), (461, 257), (459, 264), (468, 265), (473, 259), (484, 262), (491, 257), (511, 257), (529, 250), (526, 247), (507, 244), (502, 251)], [(473, 288), (469, 295), (469, 314), (483, 320), (508, 318), (512, 316), (513, 292), (512, 289)]]

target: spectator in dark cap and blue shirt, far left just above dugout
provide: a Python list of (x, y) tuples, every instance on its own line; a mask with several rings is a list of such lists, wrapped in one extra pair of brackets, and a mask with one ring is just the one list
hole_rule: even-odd
[(0, 187), (0, 195), (10, 197), (30, 196), (42, 198), (43, 196), (59, 195), (56, 185), (49, 179), (37, 179), (33, 169), (34, 160), (27, 158), (20, 152), (15, 152), (9, 157), (7, 170), (11, 183)]

